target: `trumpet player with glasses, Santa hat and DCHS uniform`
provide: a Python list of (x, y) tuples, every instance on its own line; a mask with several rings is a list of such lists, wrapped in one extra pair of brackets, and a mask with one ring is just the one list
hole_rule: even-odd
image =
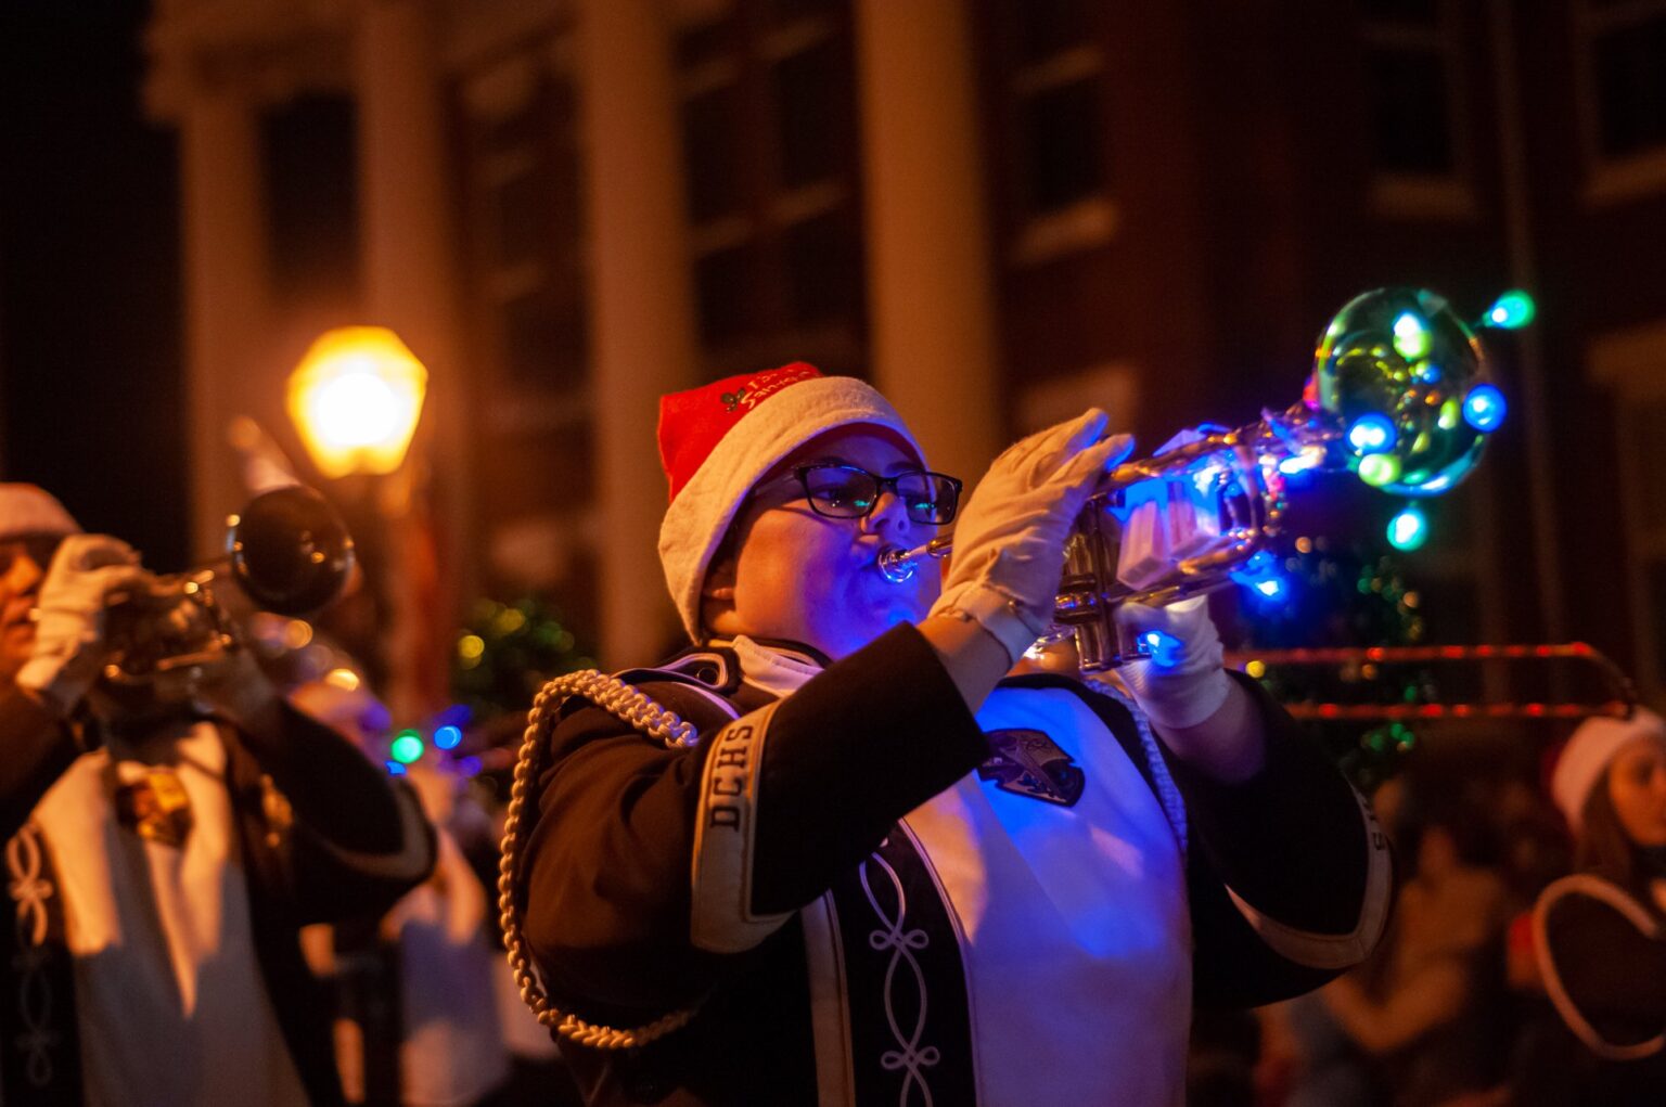
[[(693, 646), (535, 707), (506, 839), (511, 962), (586, 1102), (1180, 1104), (1195, 997), (1371, 951), (1386, 842), (1201, 604), (1128, 614), (1178, 641), (1131, 699), (1003, 679), (1131, 448), (1106, 423), (961, 503), (858, 380), (661, 400)], [(950, 524), (941, 588), (880, 571)]]

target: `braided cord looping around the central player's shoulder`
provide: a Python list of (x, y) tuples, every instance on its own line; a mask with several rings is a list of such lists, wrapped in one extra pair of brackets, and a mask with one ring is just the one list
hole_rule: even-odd
[(668, 749), (691, 747), (698, 741), (698, 732), (693, 724), (678, 717), (676, 712), (666, 711), (625, 681), (596, 669), (581, 669), (555, 678), (533, 699), (531, 711), (526, 712), (526, 734), (521, 737), (520, 754), (515, 759), (515, 784), (510, 789), (510, 809), (503, 822), (503, 856), (498, 859), (498, 911), (501, 912), (498, 922), (503, 927), (503, 946), (508, 949), (515, 985), (520, 987), (521, 1000), (531, 1007), (538, 1022), (561, 1037), (590, 1049), (636, 1049), (688, 1025), (688, 1020), (695, 1017), (695, 1007), (673, 1010), (633, 1030), (598, 1025), (585, 1022), (575, 1014), (563, 1014), (550, 1002), (550, 995), (533, 974), (526, 942), (521, 937), (520, 914), (515, 911), (521, 811), (526, 806), (526, 794), (543, 771), (541, 751), (550, 742), (550, 732), (560, 717), (561, 704), (575, 696), (588, 699), (641, 734), (660, 739)]

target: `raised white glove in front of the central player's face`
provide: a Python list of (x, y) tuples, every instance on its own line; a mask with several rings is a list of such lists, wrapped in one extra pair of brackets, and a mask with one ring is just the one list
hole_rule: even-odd
[(1016, 663), (1053, 626), (1065, 539), (1105, 471), (1133, 438), (1105, 438), (1098, 408), (1010, 446), (990, 464), (955, 524), (943, 596), (931, 614), (976, 619)]

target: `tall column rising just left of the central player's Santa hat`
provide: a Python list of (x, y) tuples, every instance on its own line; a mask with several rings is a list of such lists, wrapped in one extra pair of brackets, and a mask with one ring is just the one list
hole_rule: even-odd
[(601, 509), (601, 659), (641, 664), (676, 626), (658, 533), (658, 398), (698, 383), (678, 95), (666, 7), (580, 0)]

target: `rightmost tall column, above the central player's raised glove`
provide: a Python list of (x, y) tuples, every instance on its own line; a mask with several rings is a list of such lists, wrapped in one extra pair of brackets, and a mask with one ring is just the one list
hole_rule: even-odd
[(856, 0), (856, 70), (875, 385), (973, 481), (1003, 428), (963, 0)]

